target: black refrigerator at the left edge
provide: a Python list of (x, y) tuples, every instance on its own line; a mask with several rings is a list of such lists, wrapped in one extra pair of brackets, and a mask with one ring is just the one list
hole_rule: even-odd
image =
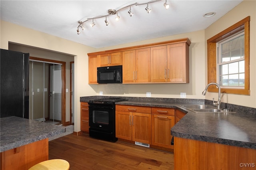
[(0, 50), (0, 117), (28, 119), (29, 53)]

